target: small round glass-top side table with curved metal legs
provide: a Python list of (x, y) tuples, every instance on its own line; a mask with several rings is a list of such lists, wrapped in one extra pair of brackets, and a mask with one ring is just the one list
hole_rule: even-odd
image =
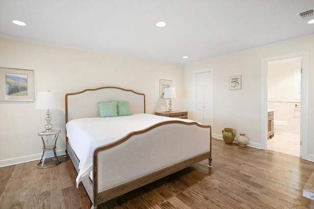
[[(44, 147), (43, 147), (43, 155), (41, 156), (40, 162), (37, 164), (37, 168), (49, 168), (49, 167), (56, 166), (57, 164), (61, 163), (60, 159), (58, 158), (55, 152), (55, 148), (56, 148), (55, 144), (57, 142), (57, 139), (60, 133), (61, 133), (60, 130), (52, 130), (50, 132), (42, 131), (38, 133), (38, 136), (40, 136), (43, 141)], [(48, 139), (44, 139), (45, 137), (48, 137), (48, 136), (54, 136), (52, 143), (49, 143)], [(52, 160), (49, 161), (49, 163), (46, 163), (45, 165), (45, 160), (47, 159), (47, 152), (51, 150), (53, 151), (54, 158), (52, 158)]]

